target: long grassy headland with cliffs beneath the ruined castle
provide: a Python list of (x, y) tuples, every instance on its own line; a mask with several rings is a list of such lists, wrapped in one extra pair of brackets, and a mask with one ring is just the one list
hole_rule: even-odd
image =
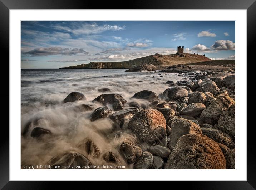
[(154, 54), (128, 61), (121, 62), (90, 62), (88, 64), (63, 67), (62, 69), (105, 69), (105, 68), (132, 68), (142, 64), (153, 64), (154, 66), (171, 66), (177, 64), (196, 63), (201, 61), (210, 61), (211, 59), (202, 56), (184, 53), (184, 57), (178, 57), (176, 54), (161, 55)]

